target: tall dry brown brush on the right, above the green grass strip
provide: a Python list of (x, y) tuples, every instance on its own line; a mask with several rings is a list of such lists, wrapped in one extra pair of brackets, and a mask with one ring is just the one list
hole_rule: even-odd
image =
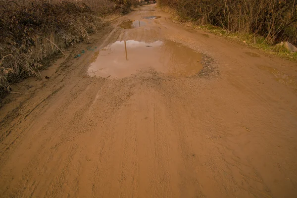
[(297, 44), (297, 0), (159, 0), (183, 20)]

